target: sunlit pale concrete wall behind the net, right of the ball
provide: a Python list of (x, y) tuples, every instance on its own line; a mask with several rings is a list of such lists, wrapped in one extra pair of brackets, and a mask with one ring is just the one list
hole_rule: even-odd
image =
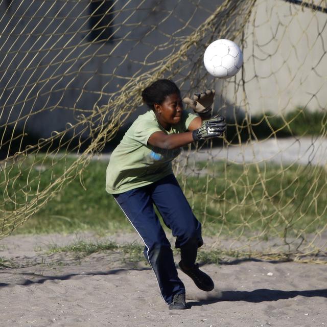
[[(321, 5), (321, 1), (314, 4)], [(217, 88), (230, 103), (250, 114), (285, 113), (297, 106), (325, 109), (326, 41), (326, 13), (282, 0), (258, 0), (245, 27), (246, 98), (241, 73), (237, 91), (228, 82), (218, 82)]]

